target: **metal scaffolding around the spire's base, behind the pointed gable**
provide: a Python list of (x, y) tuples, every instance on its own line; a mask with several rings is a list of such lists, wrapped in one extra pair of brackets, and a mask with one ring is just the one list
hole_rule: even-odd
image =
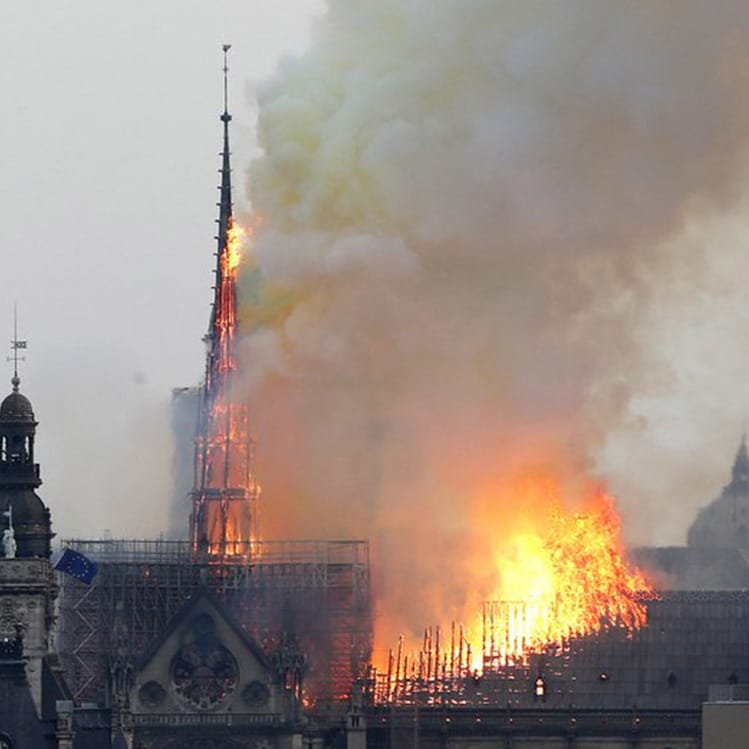
[(58, 649), (77, 700), (106, 702), (107, 656), (134, 660), (201, 586), (266, 652), (292, 634), (307, 656), (305, 699), (348, 697), (372, 650), (366, 541), (260, 541), (252, 563), (196, 562), (183, 541), (68, 540), (99, 564), (92, 585), (61, 576)]

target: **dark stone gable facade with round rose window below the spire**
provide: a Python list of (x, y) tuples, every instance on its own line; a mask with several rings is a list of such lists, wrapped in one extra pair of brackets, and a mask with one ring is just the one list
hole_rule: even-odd
[(296, 696), (277, 665), (207, 591), (199, 591), (133, 670), (132, 745), (301, 746)]

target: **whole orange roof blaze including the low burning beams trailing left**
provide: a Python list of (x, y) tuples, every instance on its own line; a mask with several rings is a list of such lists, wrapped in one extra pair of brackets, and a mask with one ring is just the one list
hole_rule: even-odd
[(401, 640), (387, 675), (380, 674), (386, 699), (397, 700), (409, 679), (428, 684), (522, 665), (531, 653), (576, 637), (647, 623), (646, 602), (655, 594), (626, 560), (612, 497), (594, 492), (573, 512), (556, 488), (536, 479), (511, 507), (487, 560), (495, 584), (483, 611), (465, 630), (453, 624), (447, 647), (440, 644), (445, 628), (427, 630), (421, 651), (405, 658)]

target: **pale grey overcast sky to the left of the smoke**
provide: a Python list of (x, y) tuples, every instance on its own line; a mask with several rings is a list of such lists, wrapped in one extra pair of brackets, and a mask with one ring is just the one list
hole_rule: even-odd
[(165, 526), (171, 388), (204, 366), (221, 44), (233, 45), (241, 207), (255, 87), (305, 47), (321, 7), (76, 0), (3, 13), (0, 338), (5, 349), (17, 300), (21, 389), (59, 535)]

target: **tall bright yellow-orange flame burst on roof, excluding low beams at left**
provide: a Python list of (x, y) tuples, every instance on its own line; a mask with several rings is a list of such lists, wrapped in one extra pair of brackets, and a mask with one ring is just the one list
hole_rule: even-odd
[(534, 525), (542, 527), (519, 532), (495, 559), (498, 604), (469, 630), (482, 631), (484, 655), (491, 649), (495, 662), (517, 662), (602, 628), (632, 631), (647, 622), (653, 592), (626, 561), (610, 496), (597, 493), (579, 512), (566, 512), (552, 496), (545, 520)]

